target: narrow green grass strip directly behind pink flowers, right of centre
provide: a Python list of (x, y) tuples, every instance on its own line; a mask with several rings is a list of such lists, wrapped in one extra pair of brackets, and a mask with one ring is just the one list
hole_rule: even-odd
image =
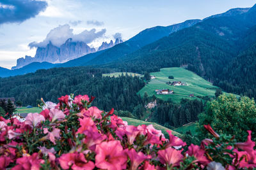
[[(145, 122), (143, 120), (138, 120), (138, 119), (128, 118), (128, 117), (122, 117), (122, 120), (128, 122), (128, 125), (135, 125), (135, 126), (152, 124), (157, 130), (161, 130), (163, 132), (164, 136), (168, 136), (168, 133), (166, 132), (166, 130), (171, 130), (166, 127), (163, 127), (162, 125), (156, 124), (154, 122)], [(178, 137), (182, 137), (182, 134), (175, 132), (175, 131), (172, 131), (172, 134), (175, 136), (178, 136)]]

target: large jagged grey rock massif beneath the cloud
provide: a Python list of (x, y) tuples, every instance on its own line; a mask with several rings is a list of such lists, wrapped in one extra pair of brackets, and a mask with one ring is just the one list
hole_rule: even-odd
[(90, 48), (86, 43), (82, 41), (74, 42), (71, 38), (67, 39), (60, 47), (52, 45), (50, 41), (47, 46), (37, 48), (35, 57), (26, 55), (25, 58), (17, 59), (17, 66), (12, 67), (12, 69), (19, 69), (31, 62), (67, 62), (95, 51), (95, 48)]

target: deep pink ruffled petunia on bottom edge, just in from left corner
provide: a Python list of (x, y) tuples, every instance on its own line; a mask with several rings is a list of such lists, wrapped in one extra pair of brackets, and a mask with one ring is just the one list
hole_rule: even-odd
[(22, 157), (16, 160), (16, 164), (17, 166), (13, 167), (13, 170), (30, 170), (30, 169), (35, 169), (35, 170), (39, 170), (41, 165), (40, 164), (44, 164), (44, 160), (43, 159), (39, 159), (38, 158), (38, 153), (33, 153), (31, 156), (29, 157)]

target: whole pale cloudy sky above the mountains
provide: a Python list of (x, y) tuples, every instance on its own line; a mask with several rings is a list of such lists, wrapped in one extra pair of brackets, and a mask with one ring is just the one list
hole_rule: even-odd
[(0, 67), (10, 68), (49, 40), (60, 46), (67, 38), (98, 47), (102, 41), (129, 39), (156, 25), (202, 19), (255, 0), (1, 0)]

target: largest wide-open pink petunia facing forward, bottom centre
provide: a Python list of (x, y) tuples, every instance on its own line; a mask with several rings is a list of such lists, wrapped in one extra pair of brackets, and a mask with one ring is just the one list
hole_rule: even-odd
[(125, 169), (127, 156), (120, 141), (102, 142), (96, 146), (95, 166), (100, 169)]

